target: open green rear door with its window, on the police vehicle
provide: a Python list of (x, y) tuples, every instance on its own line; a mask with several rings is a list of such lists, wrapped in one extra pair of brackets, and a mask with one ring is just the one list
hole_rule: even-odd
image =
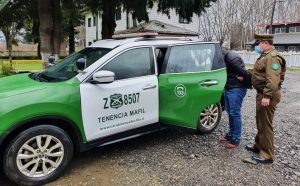
[(219, 103), (226, 69), (219, 44), (171, 46), (159, 76), (160, 122), (196, 128), (199, 114)]

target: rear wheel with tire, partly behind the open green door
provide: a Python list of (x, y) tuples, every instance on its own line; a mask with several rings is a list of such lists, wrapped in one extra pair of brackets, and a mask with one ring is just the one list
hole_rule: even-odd
[(221, 116), (221, 104), (217, 103), (206, 107), (199, 115), (197, 132), (200, 134), (212, 132), (219, 125)]

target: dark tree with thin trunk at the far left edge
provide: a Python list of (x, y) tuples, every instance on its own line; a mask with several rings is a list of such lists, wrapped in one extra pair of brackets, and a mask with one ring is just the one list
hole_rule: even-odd
[[(12, 14), (12, 12), (14, 12)], [(12, 46), (17, 45), (16, 39), (20, 29), (24, 26), (26, 19), (26, 2), (15, 0), (9, 2), (4, 9), (0, 11), (0, 30), (3, 32), (6, 40), (6, 48), (9, 54), (10, 66), (12, 67)]]

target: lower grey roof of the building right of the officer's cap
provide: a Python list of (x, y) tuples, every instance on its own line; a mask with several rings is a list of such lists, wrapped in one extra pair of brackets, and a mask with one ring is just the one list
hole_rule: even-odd
[[(253, 45), (255, 40), (247, 43)], [(274, 45), (293, 45), (300, 44), (300, 33), (285, 33), (285, 34), (274, 34), (273, 39)]]

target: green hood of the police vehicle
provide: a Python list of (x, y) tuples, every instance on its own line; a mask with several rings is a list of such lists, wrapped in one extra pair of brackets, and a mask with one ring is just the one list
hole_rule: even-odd
[(3, 77), (0, 78), (0, 99), (39, 91), (45, 88), (45, 84), (31, 79), (29, 74)]

